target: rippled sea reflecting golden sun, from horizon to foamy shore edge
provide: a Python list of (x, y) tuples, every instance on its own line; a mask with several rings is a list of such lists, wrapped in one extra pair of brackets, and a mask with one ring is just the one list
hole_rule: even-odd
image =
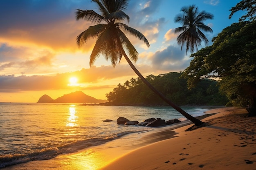
[[(193, 116), (202, 107), (182, 107)], [(118, 125), (118, 117), (139, 122), (148, 118), (186, 120), (171, 107), (82, 106), (79, 104), (0, 103), (0, 168), (45, 160), (118, 139), (146, 126)], [(113, 121), (104, 122), (106, 119)]]

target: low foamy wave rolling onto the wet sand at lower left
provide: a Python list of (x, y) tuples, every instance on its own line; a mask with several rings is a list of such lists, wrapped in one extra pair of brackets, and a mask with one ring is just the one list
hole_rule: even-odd
[(124, 135), (135, 133), (135, 132), (142, 132), (142, 131), (145, 131), (145, 130), (126, 131), (126, 132), (120, 132), (108, 137), (96, 137), (96, 138), (89, 138), (89, 139), (83, 139), (83, 140), (76, 140), (70, 144), (65, 144), (63, 146), (42, 148), (40, 150), (35, 150), (34, 152), (27, 153), (27, 154), (0, 155), (0, 168), (5, 168), (7, 166), (16, 165), (19, 163), (25, 163), (29, 161), (52, 159), (60, 154), (72, 153), (72, 152), (76, 152), (78, 150), (85, 149), (91, 146), (98, 146), (101, 144), (105, 144), (108, 141), (118, 139)]

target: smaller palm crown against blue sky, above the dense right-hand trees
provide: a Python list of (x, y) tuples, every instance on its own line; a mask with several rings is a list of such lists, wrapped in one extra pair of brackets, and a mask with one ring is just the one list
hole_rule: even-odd
[(174, 22), (182, 24), (182, 27), (174, 30), (175, 33), (182, 32), (177, 37), (177, 42), (179, 45), (181, 44), (181, 49), (186, 43), (186, 53), (189, 49), (193, 53), (195, 49), (198, 51), (198, 46), (201, 46), (202, 40), (205, 44), (208, 44), (208, 40), (202, 31), (212, 32), (212, 29), (205, 25), (203, 21), (213, 19), (213, 15), (205, 11), (199, 12), (198, 7), (195, 7), (195, 5), (182, 7), (180, 11), (182, 13), (174, 18)]

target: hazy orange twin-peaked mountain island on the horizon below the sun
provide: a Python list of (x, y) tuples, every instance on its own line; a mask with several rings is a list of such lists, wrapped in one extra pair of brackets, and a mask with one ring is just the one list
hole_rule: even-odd
[(85, 95), (81, 91), (76, 91), (70, 94), (63, 95), (57, 99), (52, 99), (48, 95), (43, 95), (39, 98), (38, 103), (104, 103), (107, 100), (96, 99)]

